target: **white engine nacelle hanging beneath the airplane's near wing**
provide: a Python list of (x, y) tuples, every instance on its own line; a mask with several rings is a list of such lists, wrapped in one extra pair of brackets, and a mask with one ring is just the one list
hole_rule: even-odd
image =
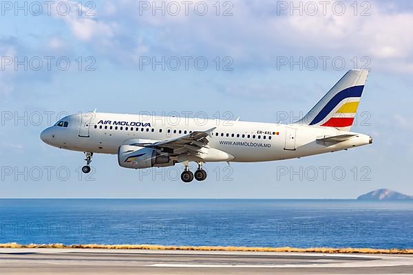
[(118, 163), (125, 168), (151, 168), (153, 166), (173, 166), (167, 155), (160, 155), (152, 148), (121, 145), (118, 149)]

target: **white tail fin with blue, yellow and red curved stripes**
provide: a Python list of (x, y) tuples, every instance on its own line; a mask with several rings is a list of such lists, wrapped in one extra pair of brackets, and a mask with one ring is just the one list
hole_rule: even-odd
[(328, 126), (350, 131), (368, 72), (367, 69), (350, 69), (326, 96), (295, 124)]

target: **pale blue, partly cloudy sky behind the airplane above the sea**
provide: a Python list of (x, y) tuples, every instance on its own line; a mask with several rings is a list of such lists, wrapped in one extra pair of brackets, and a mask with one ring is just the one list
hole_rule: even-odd
[[(145, 9), (152, 1), (83, 2), (80, 16), (70, 1), (61, 4), (71, 6), (67, 15), (57, 11), (59, 1), (39, 16), (30, 2), (27, 15), (14, 2), (2, 6), (0, 197), (349, 198), (375, 188), (413, 194), (411, 1), (359, 1), (357, 10), (344, 1), (342, 13), (332, 1), (325, 14), (321, 5), (313, 14), (306, 1), (301, 14), (280, 1), (222, 1), (219, 15), (216, 1), (204, 1), (198, 4), (208, 7), (204, 16), (194, 9), (198, 2), (188, 14), (180, 5), (178, 15)], [(86, 15), (91, 7), (94, 15)], [(142, 58), (162, 56), (178, 58), (180, 67), (142, 65)], [(67, 70), (59, 58), (70, 61)], [(208, 61), (207, 68), (197, 68), (196, 58)], [(283, 162), (207, 164), (206, 181), (184, 185), (176, 177), (180, 165), (159, 173), (127, 170), (114, 155), (94, 156), (96, 171), (85, 179), (78, 173), (83, 154), (39, 140), (47, 113), (54, 122), (59, 113), (95, 108), (290, 122), (353, 67), (371, 69), (352, 130), (372, 135), (372, 146)]]

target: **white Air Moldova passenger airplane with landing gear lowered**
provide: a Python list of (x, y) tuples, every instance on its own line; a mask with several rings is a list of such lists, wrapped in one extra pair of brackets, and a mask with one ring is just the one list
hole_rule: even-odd
[[(184, 183), (207, 178), (209, 162), (268, 162), (372, 144), (350, 131), (368, 70), (351, 69), (301, 120), (290, 124), (205, 120), (156, 115), (76, 113), (41, 132), (46, 144), (85, 153), (89, 173), (95, 153), (116, 154), (124, 168), (183, 164)], [(189, 162), (196, 162), (195, 173)]]

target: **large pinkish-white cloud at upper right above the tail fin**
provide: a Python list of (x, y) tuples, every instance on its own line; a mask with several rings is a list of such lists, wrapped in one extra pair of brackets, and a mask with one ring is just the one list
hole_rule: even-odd
[[(387, 62), (403, 65), (413, 72), (413, 12), (388, 13), (384, 5), (373, 3), (368, 17), (354, 16), (348, 11), (342, 16), (284, 16), (268, 18), (268, 28), (279, 40), (288, 41), (292, 50), (306, 54), (365, 55), (372, 65), (393, 69)], [(272, 41), (276, 47), (277, 41)], [(271, 46), (271, 45), (270, 45)]]

